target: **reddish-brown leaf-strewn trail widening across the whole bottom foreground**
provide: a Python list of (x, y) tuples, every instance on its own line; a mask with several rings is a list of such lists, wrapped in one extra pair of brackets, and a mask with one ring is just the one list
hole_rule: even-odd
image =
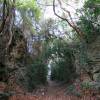
[(48, 80), (47, 86), (42, 86), (35, 93), (12, 96), (9, 100), (97, 100), (89, 96), (79, 98), (73, 95), (66, 95), (66, 84), (60, 84)]

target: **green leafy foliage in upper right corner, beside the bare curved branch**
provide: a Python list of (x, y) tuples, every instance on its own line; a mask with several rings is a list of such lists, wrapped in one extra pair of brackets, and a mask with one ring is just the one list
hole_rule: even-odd
[(98, 0), (88, 0), (80, 11), (83, 15), (81, 15), (78, 24), (84, 32), (87, 43), (93, 42), (100, 33), (100, 7), (98, 3), (100, 3)]

